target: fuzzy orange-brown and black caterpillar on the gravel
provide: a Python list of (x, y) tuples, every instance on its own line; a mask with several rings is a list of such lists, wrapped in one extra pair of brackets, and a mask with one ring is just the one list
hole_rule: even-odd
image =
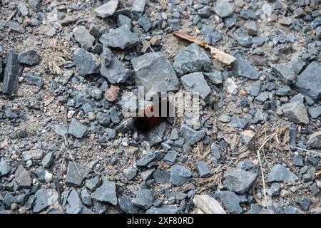
[[(156, 105), (158, 105), (158, 108), (156, 108)], [(166, 105), (166, 110), (164, 106)], [(153, 102), (151, 105), (149, 105), (144, 110), (141, 110), (141, 112), (138, 113), (138, 116), (134, 118), (134, 127), (136, 130), (140, 133), (148, 133), (150, 130), (153, 130), (158, 125), (160, 125), (166, 118), (170, 116), (170, 102), (168, 100), (158, 100), (157, 102)], [(162, 110), (165, 110), (165, 116), (161, 115)], [(156, 115), (148, 115), (147, 113), (154, 112)]]

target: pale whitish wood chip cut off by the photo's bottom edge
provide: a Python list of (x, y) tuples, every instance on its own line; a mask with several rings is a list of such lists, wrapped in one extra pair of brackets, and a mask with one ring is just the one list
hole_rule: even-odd
[[(226, 214), (223, 207), (220, 206), (220, 203), (209, 195), (195, 195), (193, 203), (204, 214)], [(199, 213), (200, 212), (198, 212), (198, 214)]]

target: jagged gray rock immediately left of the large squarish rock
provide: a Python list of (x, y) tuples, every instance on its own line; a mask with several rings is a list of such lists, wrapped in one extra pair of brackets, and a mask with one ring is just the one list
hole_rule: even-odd
[(110, 64), (106, 66), (103, 62), (101, 64), (101, 75), (106, 78), (111, 84), (126, 83), (128, 78), (131, 78), (133, 71), (124, 67), (118, 58), (111, 58)]

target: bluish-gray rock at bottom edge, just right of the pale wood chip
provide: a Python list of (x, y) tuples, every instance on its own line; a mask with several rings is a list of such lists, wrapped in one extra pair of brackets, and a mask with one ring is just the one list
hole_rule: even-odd
[(225, 209), (231, 214), (240, 214), (243, 212), (242, 207), (240, 207), (240, 198), (234, 192), (220, 191), (217, 193), (217, 197)]

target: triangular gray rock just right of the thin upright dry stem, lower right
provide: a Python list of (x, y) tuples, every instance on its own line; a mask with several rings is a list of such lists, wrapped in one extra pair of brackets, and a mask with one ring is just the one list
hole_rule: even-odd
[(299, 177), (289, 169), (283, 165), (277, 164), (272, 167), (272, 171), (267, 177), (267, 182), (295, 182), (298, 179)]

